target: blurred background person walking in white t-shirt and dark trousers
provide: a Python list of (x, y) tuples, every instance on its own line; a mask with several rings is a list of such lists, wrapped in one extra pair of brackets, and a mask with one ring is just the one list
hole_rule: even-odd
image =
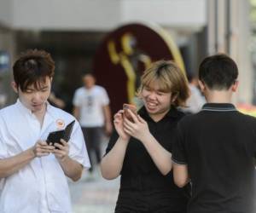
[(102, 159), (102, 130), (106, 135), (112, 132), (112, 119), (109, 98), (106, 89), (96, 85), (96, 78), (91, 73), (83, 76), (84, 86), (76, 89), (73, 97), (73, 115), (79, 119), (82, 126), (86, 147), (89, 153), (91, 167), (95, 164), (92, 153), (96, 154), (96, 163)]

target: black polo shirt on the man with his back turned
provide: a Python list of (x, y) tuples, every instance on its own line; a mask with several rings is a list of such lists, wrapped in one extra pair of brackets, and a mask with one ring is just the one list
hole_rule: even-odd
[(207, 103), (177, 125), (172, 160), (188, 164), (189, 213), (254, 213), (256, 119)]

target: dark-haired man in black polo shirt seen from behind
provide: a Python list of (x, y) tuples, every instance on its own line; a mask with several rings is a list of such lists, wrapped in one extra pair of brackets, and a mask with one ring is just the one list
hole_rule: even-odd
[(199, 79), (207, 104), (177, 125), (173, 173), (178, 187), (191, 180), (188, 213), (256, 212), (256, 119), (230, 103), (237, 76), (235, 61), (226, 55), (203, 60)]

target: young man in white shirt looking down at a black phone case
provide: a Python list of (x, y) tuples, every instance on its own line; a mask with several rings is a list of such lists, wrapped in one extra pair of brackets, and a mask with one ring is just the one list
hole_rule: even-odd
[(47, 102), (55, 63), (42, 50), (27, 50), (15, 61), (12, 83), (18, 100), (0, 111), (0, 211), (71, 213), (67, 177), (78, 181), (90, 162), (79, 123), (69, 141), (54, 146), (49, 132), (75, 118)]

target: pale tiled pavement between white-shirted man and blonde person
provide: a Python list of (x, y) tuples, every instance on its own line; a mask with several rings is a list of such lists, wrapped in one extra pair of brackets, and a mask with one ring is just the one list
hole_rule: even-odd
[(113, 213), (119, 190), (119, 178), (107, 181), (97, 169), (85, 173), (78, 182), (69, 181), (73, 213)]

